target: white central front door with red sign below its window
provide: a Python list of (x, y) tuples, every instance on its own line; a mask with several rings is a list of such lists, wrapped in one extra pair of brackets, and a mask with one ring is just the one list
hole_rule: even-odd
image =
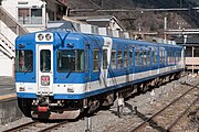
[(38, 95), (53, 94), (53, 45), (36, 45)]

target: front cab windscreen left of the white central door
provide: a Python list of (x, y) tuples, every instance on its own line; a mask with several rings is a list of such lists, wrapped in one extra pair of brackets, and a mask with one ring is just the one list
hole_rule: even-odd
[(15, 72), (31, 73), (33, 72), (33, 52), (15, 51)]

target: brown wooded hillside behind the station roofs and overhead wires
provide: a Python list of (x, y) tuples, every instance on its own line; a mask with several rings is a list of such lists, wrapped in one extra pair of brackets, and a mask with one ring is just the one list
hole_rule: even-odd
[(75, 9), (130, 9), (132, 12), (71, 12), (70, 15), (115, 15), (127, 31), (143, 32), (164, 31), (164, 18), (167, 18), (168, 29), (195, 29), (199, 25), (199, 14), (189, 11), (145, 12), (142, 9), (150, 8), (190, 8), (199, 7), (199, 0), (67, 0), (72, 10)]

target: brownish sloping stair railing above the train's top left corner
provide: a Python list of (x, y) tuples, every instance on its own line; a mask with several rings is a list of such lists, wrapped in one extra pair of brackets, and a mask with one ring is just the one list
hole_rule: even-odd
[(15, 19), (7, 12), (2, 6), (0, 6), (0, 20), (11, 29), (17, 35), (22, 35), (29, 33), (27, 29), (21, 26)]

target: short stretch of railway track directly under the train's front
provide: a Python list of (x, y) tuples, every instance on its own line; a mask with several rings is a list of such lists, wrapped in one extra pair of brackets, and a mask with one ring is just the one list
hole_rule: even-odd
[(20, 131), (36, 131), (36, 132), (49, 132), (52, 131), (63, 124), (69, 123), (69, 121), (61, 121), (57, 123), (45, 123), (45, 122), (39, 122), (39, 121), (32, 121), (29, 123), (24, 123), (21, 125), (18, 125), (15, 128), (11, 128), (9, 130), (2, 131), (2, 132), (20, 132)]

